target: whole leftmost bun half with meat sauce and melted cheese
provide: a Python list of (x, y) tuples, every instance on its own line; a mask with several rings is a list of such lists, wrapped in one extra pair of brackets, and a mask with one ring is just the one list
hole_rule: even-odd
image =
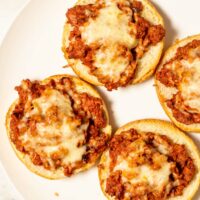
[[(87, 170), (96, 163), (110, 138), (111, 126), (106, 105), (93, 87), (74, 76), (64, 74), (51, 76), (43, 81), (25, 80), (16, 90), (19, 99), (7, 112), (6, 128), (16, 155), (29, 170), (47, 179), (62, 179)], [(30, 90), (37, 96), (31, 98)], [(36, 92), (41, 93), (38, 95)], [(26, 103), (24, 114), (19, 117), (17, 106), (19, 108), (19, 103), (22, 104), (21, 98), (26, 98), (26, 94), (26, 101), (33, 107), (28, 112), (29, 105)], [(87, 95), (81, 96), (80, 100), (78, 96), (81, 94)], [(76, 109), (76, 103), (76, 106), (80, 105), (78, 101), (85, 99), (84, 106), (88, 104), (93, 109), (98, 108), (102, 116), (91, 112), (88, 118), (87, 111), (79, 107), (82, 117), (78, 117), (72, 109), (72, 101), (68, 95), (73, 99), (73, 109)], [(94, 118), (97, 117), (103, 117), (103, 125), (95, 125), (98, 122)], [(99, 137), (90, 138), (89, 134), (92, 132), (88, 120), (93, 121)], [(25, 130), (22, 129), (24, 123)], [(13, 127), (18, 127), (18, 133)], [(99, 144), (100, 140), (103, 143)], [(95, 153), (90, 148), (98, 148), (99, 151)]]

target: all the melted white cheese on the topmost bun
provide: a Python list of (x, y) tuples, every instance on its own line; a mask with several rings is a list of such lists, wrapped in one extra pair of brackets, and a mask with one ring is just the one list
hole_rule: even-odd
[(126, 14), (118, 8), (116, 1), (107, 1), (106, 6), (99, 10), (98, 17), (81, 27), (85, 43), (100, 47), (94, 59), (94, 66), (100, 73), (119, 79), (130, 64), (122, 47), (132, 49), (138, 43), (135, 25), (131, 21), (132, 12)]

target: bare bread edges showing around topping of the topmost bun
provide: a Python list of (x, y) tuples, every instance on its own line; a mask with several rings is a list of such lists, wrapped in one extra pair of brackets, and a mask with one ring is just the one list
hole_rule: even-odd
[[(78, 0), (76, 5), (86, 5), (88, 3), (93, 3), (94, 0)], [(143, 4), (143, 11), (141, 16), (148, 20), (152, 25), (162, 25), (164, 27), (164, 21), (155, 7), (148, 0), (138, 0)], [(89, 68), (86, 67), (80, 60), (77, 59), (69, 59), (69, 55), (66, 52), (66, 46), (69, 45), (69, 36), (72, 30), (72, 26), (69, 23), (65, 23), (64, 31), (63, 31), (63, 39), (62, 39), (62, 50), (64, 52), (64, 56), (68, 61), (68, 64), (74, 72), (83, 80), (96, 85), (103, 86), (104, 84), (98, 80), (98, 78), (92, 75), (89, 72)], [(137, 84), (147, 80), (155, 71), (159, 60), (162, 55), (164, 47), (164, 38), (158, 42), (156, 45), (151, 45), (148, 50), (144, 53), (142, 58), (140, 58), (137, 62), (137, 68), (135, 70), (134, 78), (130, 81), (130, 84)], [(105, 85), (104, 85), (105, 86)]]

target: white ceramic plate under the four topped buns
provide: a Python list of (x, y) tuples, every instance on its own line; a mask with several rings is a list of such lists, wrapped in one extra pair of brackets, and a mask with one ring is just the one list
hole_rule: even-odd
[[(74, 0), (32, 0), (16, 18), (0, 49), (0, 159), (7, 174), (26, 200), (103, 200), (97, 168), (65, 180), (50, 181), (31, 173), (15, 156), (4, 127), (5, 114), (17, 97), (14, 86), (22, 79), (43, 79), (72, 73), (61, 52), (61, 35), (67, 8)], [(176, 38), (200, 33), (200, 1), (154, 0), (165, 19), (166, 46)], [(153, 80), (138, 86), (107, 92), (111, 123), (117, 127), (136, 119), (168, 119), (161, 109)], [(200, 135), (190, 134), (200, 146)], [(55, 193), (59, 196), (55, 196)], [(200, 194), (196, 195), (196, 200)]]

